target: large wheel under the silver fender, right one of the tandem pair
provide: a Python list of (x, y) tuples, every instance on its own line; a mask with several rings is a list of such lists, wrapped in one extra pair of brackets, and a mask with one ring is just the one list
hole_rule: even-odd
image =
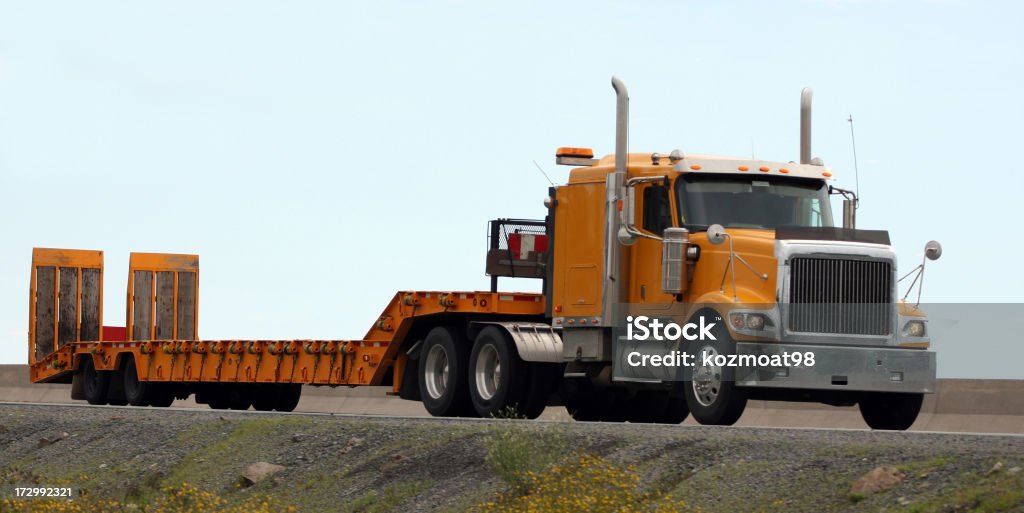
[(469, 396), (476, 413), (484, 419), (532, 413), (524, 408), (529, 371), (507, 332), (496, 326), (481, 330), (469, 356)]

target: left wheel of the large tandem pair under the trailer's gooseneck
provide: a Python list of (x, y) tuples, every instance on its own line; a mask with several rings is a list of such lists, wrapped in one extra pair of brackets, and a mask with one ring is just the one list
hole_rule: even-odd
[(467, 371), (468, 342), (456, 330), (437, 327), (423, 340), (420, 352), (420, 397), (434, 417), (470, 415)]

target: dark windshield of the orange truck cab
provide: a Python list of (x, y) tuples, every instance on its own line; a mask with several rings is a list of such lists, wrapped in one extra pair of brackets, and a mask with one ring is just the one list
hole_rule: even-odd
[(676, 194), (682, 224), (691, 229), (833, 226), (822, 180), (690, 173), (676, 180)]

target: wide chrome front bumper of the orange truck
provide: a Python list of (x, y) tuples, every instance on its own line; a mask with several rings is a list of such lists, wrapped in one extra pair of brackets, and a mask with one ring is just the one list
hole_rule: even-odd
[(895, 347), (819, 346), (737, 342), (737, 354), (813, 352), (813, 367), (738, 368), (744, 387), (935, 392), (935, 352)]

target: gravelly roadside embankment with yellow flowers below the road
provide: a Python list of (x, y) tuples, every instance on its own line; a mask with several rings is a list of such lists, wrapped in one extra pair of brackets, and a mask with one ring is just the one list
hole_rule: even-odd
[(1014, 436), (2, 405), (0, 446), (3, 483), (74, 485), (113, 511), (181, 483), (303, 512), (504, 511), (571, 493), (549, 475), (635, 479), (613, 497), (650, 511), (1024, 510)]

